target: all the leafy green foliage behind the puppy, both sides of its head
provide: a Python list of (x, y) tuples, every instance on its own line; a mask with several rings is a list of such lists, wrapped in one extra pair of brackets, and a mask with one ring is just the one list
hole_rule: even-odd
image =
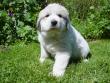
[(110, 38), (110, 0), (1, 0), (0, 45), (37, 41), (38, 13), (53, 2), (69, 10), (72, 24), (85, 38)]

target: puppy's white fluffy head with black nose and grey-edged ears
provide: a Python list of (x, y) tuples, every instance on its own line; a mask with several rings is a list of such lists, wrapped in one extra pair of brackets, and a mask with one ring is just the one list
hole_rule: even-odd
[(39, 31), (65, 30), (69, 22), (69, 13), (59, 4), (49, 4), (39, 13), (37, 26)]

